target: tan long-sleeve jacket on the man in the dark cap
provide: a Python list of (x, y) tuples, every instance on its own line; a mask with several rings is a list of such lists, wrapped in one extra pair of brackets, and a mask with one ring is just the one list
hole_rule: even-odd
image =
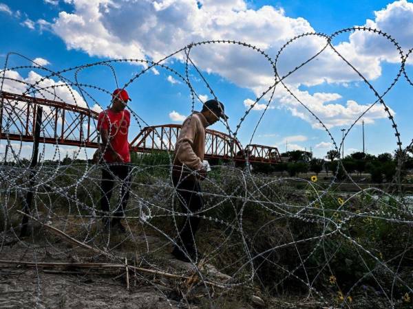
[(207, 119), (199, 112), (193, 112), (184, 120), (175, 146), (174, 171), (180, 172), (182, 165), (190, 170), (202, 168), (207, 126)]

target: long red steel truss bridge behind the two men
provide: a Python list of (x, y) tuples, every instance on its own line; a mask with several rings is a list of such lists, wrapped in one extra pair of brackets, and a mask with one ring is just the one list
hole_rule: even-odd
[[(87, 148), (98, 147), (96, 130), (98, 113), (89, 108), (64, 102), (34, 98), (16, 93), (0, 93), (0, 139), (34, 141), (37, 106), (43, 109), (40, 141), (46, 144), (68, 145)], [(173, 152), (181, 126), (163, 124), (147, 126), (129, 143), (131, 151)], [(225, 133), (207, 129), (205, 158), (235, 159), (278, 163), (281, 157), (277, 148), (256, 144), (242, 148), (240, 143)]]

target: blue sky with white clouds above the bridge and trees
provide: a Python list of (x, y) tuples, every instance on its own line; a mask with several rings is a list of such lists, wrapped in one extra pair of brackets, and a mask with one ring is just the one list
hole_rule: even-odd
[[(0, 60), (8, 52), (30, 59), (42, 58), (45, 67), (60, 71), (77, 65), (116, 58), (157, 60), (191, 42), (210, 39), (244, 41), (262, 47), (275, 58), (279, 47), (289, 38), (304, 32), (324, 32), (354, 25), (367, 25), (388, 32), (401, 44), (404, 52), (413, 47), (413, 3), (410, 1), (244, 1), (244, 0), (176, 0), (176, 1), (109, 1), (109, 0), (0, 0)], [(364, 32), (342, 34), (333, 41), (341, 54), (363, 73), (379, 93), (392, 82), (400, 67), (394, 49), (383, 38)], [(309, 58), (324, 41), (304, 38), (291, 44), (279, 58), (280, 75)], [(235, 130), (248, 102), (253, 102), (270, 85), (271, 65), (251, 50), (233, 46), (204, 45), (191, 52), (215, 95), (224, 102)], [(11, 56), (8, 67), (29, 65), (19, 56)], [(184, 74), (182, 54), (166, 65)], [(142, 70), (126, 63), (114, 66), (120, 85)], [(27, 69), (16, 69), (19, 78), (28, 80)], [(34, 69), (40, 76), (45, 71)], [(211, 97), (200, 76), (191, 69), (191, 82), (198, 95)], [(412, 65), (407, 73), (413, 76)], [(73, 79), (67, 74), (67, 78)], [(114, 79), (106, 67), (82, 71), (81, 82), (112, 91)], [(191, 111), (189, 89), (177, 76), (160, 67), (149, 71), (127, 90), (132, 108), (149, 125), (180, 123)], [(55, 79), (54, 82), (58, 80)], [(331, 50), (286, 78), (286, 84), (328, 126), (337, 144), (341, 128), (348, 128), (375, 98), (366, 84)], [(410, 143), (413, 126), (413, 87), (401, 78), (385, 96), (385, 103), (395, 114), (403, 145)], [(109, 96), (94, 93), (105, 108)], [(252, 101), (251, 101), (252, 100)], [(251, 135), (262, 115), (260, 101), (240, 128), (242, 144)], [(85, 102), (90, 108), (94, 102)], [(195, 109), (200, 109), (197, 102)], [(394, 130), (383, 106), (376, 105), (366, 114), (366, 148), (373, 154), (392, 152), (396, 148)], [(345, 141), (345, 154), (361, 150), (361, 123), (356, 124)], [(223, 124), (211, 127), (226, 131)], [(138, 133), (133, 123), (129, 139)], [(3, 144), (4, 142), (1, 141)], [(278, 146), (281, 152), (313, 149), (323, 157), (332, 148), (326, 130), (282, 87), (266, 111), (252, 140), (253, 144)], [(1, 152), (1, 149), (0, 149)]]

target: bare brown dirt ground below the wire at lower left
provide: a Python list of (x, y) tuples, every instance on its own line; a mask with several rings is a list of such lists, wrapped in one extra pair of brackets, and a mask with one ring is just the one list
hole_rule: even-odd
[[(156, 238), (148, 236), (147, 239), (156, 242)], [(23, 262), (111, 262), (56, 240), (41, 236), (19, 241), (10, 237), (3, 244), (0, 240), (0, 308), (211, 308), (207, 290), (201, 285), (194, 288), (193, 293), (187, 293), (190, 284), (185, 279), (129, 270), (128, 291), (125, 268), (24, 265)], [(194, 273), (191, 264), (175, 260), (168, 253), (158, 255), (151, 262), (151, 265), (139, 266), (178, 275)], [(229, 277), (218, 275), (221, 279)], [(191, 298), (182, 295), (191, 295)], [(233, 308), (252, 307), (237, 304)]]

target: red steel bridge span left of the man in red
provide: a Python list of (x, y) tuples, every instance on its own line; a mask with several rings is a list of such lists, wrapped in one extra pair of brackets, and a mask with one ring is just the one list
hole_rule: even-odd
[(41, 141), (47, 144), (97, 147), (98, 113), (64, 102), (16, 93), (0, 93), (0, 138), (33, 141), (36, 108), (42, 106)]

